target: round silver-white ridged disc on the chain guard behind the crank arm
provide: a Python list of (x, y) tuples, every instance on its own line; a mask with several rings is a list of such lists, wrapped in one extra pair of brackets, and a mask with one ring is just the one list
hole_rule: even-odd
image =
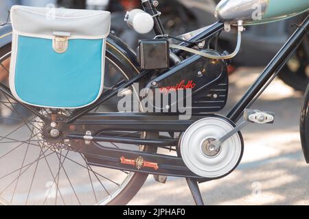
[(243, 153), (239, 133), (223, 142), (218, 151), (209, 144), (233, 129), (226, 118), (209, 117), (192, 124), (181, 138), (181, 157), (187, 168), (196, 175), (213, 179), (229, 174), (238, 166)]

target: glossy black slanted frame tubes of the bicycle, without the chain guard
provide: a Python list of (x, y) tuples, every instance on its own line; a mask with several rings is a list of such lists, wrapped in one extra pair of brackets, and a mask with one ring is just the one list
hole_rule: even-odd
[[(275, 55), (275, 57), (273, 58), (273, 60), (271, 60), (268, 66), (266, 66), (264, 71), (260, 74), (258, 79), (255, 80), (255, 82), (252, 84), (249, 90), (247, 90), (242, 99), (240, 99), (240, 101), (238, 101), (238, 103), (229, 112), (227, 118), (231, 119), (233, 122), (237, 122), (239, 118), (242, 116), (244, 110), (250, 107), (253, 103), (255, 103), (256, 99), (258, 99), (258, 97), (260, 96), (260, 94), (262, 94), (264, 89), (269, 85), (271, 81), (273, 81), (273, 79), (275, 79), (275, 76), (279, 73), (279, 70), (281, 70), (284, 64), (286, 64), (290, 56), (293, 55), (293, 53), (301, 43), (301, 40), (304, 38), (305, 34), (308, 33), (308, 25), (309, 25), (309, 16), (307, 16), (303, 21), (303, 23), (301, 23), (301, 25), (297, 27), (294, 34), (288, 39), (286, 44), (284, 44), (284, 46), (282, 47), (282, 49), (280, 49), (277, 55)], [(190, 40), (201, 40), (203, 38), (210, 38), (211, 36), (217, 34), (219, 31), (222, 31), (223, 28), (224, 28), (223, 23), (220, 22), (214, 23), (214, 25), (211, 25), (209, 28), (202, 31), (201, 34), (194, 36)], [(193, 46), (193, 44), (189, 43), (183, 43), (183, 45), (187, 47)], [(108, 101), (108, 99), (111, 99), (113, 96), (117, 95), (119, 90), (132, 86), (133, 83), (139, 81), (139, 79), (141, 79), (142, 77), (145, 77), (146, 75), (151, 75), (152, 73), (153, 73), (152, 70), (144, 70), (135, 78), (122, 84), (122, 86), (119, 86), (119, 88), (115, 88), (115, 90), (102, 94), (100, 99), (98, 99), (98, 101), (96, 101), (93, 105), (90, 105), (81, 110), (76, 110), (76, 112), (73, 112), (73, 114), (67, 118), (66, 123), (67, 124), (74, 123), (82, 116), (91, 112), (91, 110), (95, 109), (105, 101)], [(6, 95), (10, 96), (10, 98), (17, 101), (10, 92), (10, 88), (4, 86), (2, 83), (0, 83), (0, 90), (4, 92)], [(27, 107), (28, 110), (36, 114), (36, 116), (43, 118), (42, 114), (40, 114), (36, 110), (36, 107), (32, 107), (26, 104), (23, 105)], [(104, 114), (102, 116), (104, 117)], [(128, 115), (126, 113), (123, 113), (123, 116), (126, 117)], [(98, 120), (100, 120), (100, 118), (96, 117), (95, 120), (93, 120), (93, 123), (98, 123)]]

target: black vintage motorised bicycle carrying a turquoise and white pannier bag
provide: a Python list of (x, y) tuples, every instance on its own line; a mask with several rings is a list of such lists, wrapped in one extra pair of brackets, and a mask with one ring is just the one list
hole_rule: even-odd
[[(187, 179), (195, 203), (203, 205), (198, 183), (237, 168), (241, 129), (274, 122), (270, 112), (249, 108), (308, 34), (308, 16), (225, 116), (216, 112), (227, 103), (227, 66), (246, 25), (306, 12), (308, 0), (222, 0), (217, 23), (178, 37), (165, 34), (158, 1), (141, 4), (144, 11), (128, 12), (126, 21), (157, 36), (141, 40), (137, 55), (109, 33), (108, 12), (12, 8), (12, 25), (3, 25), (0, 37), (9, 41), (0, 49), (0, 64), (10, 75), (9, 84), (0, 83), (1, 120), (15, 122), (0, 129), (2, 204), (125, 205), (155, 175), (160, 182)], [(236, 50), (216, 51), (220, 32), (231, 29), (238, 31)], [(136, 85), (147, 92), (141, 95)], [(156, 90), (161, 96), (177, 92), (177, 99), (145, 105), (143, 97)], [(124, 96), (133, 110), (119, 112)], [(187, 99), (192, 105), (179, 107)], [(300, 123), (309, 163), (308, 99), (309, 89)], [(192, 112), (189, 118), (181, 119), (183, 110)]]

